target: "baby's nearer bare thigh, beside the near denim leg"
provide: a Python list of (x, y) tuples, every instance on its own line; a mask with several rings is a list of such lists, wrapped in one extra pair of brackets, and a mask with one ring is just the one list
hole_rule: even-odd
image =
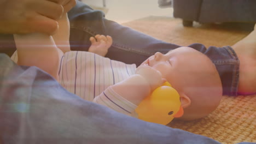
[(18, 51), (19, 65), (36, 66), (58, 80), (63, 52), (56, 47), (50, 35), (14, 34), (14, 40)]

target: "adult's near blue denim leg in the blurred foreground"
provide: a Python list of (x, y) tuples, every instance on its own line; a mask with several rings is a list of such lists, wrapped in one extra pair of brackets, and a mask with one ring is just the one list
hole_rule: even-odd
[(0, 143), (219, 143), (83, 100), (2, 53), (0, 68)]

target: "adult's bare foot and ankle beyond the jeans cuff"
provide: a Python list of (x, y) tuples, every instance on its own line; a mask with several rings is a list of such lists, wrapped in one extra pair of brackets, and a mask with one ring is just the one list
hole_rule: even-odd
[(240, 59), (238, 92), (240, 94), (256, 93), (256, 24), (254, 31), (232, 48)]

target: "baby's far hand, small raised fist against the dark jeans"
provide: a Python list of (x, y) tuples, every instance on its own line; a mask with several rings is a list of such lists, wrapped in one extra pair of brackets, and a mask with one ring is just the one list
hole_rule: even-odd
[(89, 52), (96, 53), (100, 56), (105, 56), (108, 52), (109, 47), (112, 45), (112, 37), (107, 35), (96, 35), (95, 37), (90, 38), (91, 46), (89, 47)]

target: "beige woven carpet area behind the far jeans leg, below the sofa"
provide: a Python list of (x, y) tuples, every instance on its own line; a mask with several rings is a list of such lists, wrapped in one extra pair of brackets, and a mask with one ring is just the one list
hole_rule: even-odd
[[(208, 46), (233, 45), (245, 37), (250, 28), (248, 25), (199, 25), (183, 27), (182, 21), (171, 17), (149, 16), (143, 19), (123, 23), (137, 31), (152, 35), (155, 38), (177, 45), (187, 46), (202, 43)], [(253, 25), (249, 25), (252, 26)]]

